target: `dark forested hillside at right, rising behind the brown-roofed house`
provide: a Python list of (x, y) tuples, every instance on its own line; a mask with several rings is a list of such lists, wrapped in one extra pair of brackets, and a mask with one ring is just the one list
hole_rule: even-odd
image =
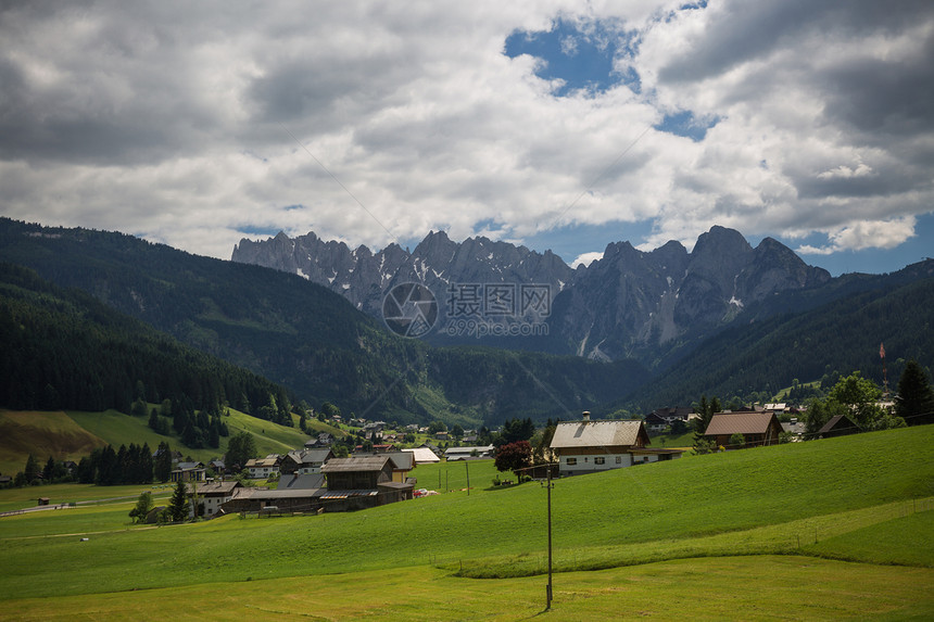
[(934, 367), (930, 320), (934, 262), (906, 270), (919, 274), (910, 279), (900, 275), (858, 279), (856, 291), (838, 300), (724, 329), (635, 392), (626, 405), (651, 410), (658, 404), (691, 404), (702, 394), (742, 399), (754, 392), (773, 394), (794, 379), (820, 380), (833, 371), (859, 370), (881, 386), (881, 343), (894, 390), (906, 360)]

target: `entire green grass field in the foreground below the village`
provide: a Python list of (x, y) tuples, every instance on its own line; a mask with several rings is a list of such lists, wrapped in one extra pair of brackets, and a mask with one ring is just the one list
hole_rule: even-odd
[[(930, 619), (932, 458), (926, 426), (558, 480), (546, 617)], [(491, 485), (489, 460), (413, 474), (441, 494), (159, 529), (128, 523), (131, 500), (0, 519), (0, 619), (541, 612), (545, 490)]]

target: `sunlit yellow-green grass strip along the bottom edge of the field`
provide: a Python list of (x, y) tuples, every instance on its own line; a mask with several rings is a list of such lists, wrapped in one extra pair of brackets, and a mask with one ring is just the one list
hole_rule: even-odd
[[(546, 620), (930, 619), (934, 570), (798, 557), (674, 560), (555, 576)], [(0, 601), (3, 620), (529, 620), (542, 576), (470, 580), (431, 567)]]

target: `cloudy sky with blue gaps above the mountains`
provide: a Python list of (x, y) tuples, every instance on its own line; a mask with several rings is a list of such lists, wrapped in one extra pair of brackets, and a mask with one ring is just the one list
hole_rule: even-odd
[(229, 258), (314, 231), (934, 255), (934, 2), (4, 2), (0, 215)]

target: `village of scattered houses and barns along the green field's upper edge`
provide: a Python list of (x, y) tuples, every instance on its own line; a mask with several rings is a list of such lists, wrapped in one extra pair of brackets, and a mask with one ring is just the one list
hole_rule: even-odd
[[(880, 403), (880, 406), (891, 408), (893, 404)], [(798, 414), (797, 408), (785, 403), (715, 412), (703, 439), (715, 450), (799, 441), (806, 428), (798, 421)], [(591, 414), (584, 411), (579, 420), (558, 422), (554, 427), (551, 439), (546, 440), (546, 465), (529, 472), (537, 478), (546, 474), (560, 478), (677, 459), (691, 447), (653, 446), (649, 434), (690, 431), (700, 417), (692, 407), (656, 409), (644, 419), (633, 420), (592, 419)], [(496, 455), (493, 444), (457, 443), (458, 440), (476, 441), (478, 436), (472, 430), (458, 434), (459, 439), (447, 431), (434, 431), (433, 440), (444, 442), (444, 448), (431, 442), (415, 448), (399, 448), (393, 442), (402, 436), (392, 433), (383, 436), (386, 422), (354, 420), (353, 423), (366, 443), (357, 445), (346, 457), (336, 455), (335, 436), (324, 432), (314, 435), (301, 448), (251, 458), (242, 469), (238, 469), (239, 465), (228, 469), (223, 460), (206, 465), (184, 461), (179, 453), (174, 453), (171, 481), (181, 481), (188, 486), (189, 519), (229, 513), (273, 517), (353, 511), (437, 494), (437, 491), (418, 487), (415, 473), (418, 465), (491, 459)], [(430, 432), (428, 428), (417, 427), (408, 432), (416, 430), (422, 434)], [(849, 418), (835, 416), (819, 430), (817, 437), (857, 431)], [(236, 477), (238, 471), (240, 477)], [(151, 509), (146, 522), (159, 522), (163, 511), (162, 506)]]

